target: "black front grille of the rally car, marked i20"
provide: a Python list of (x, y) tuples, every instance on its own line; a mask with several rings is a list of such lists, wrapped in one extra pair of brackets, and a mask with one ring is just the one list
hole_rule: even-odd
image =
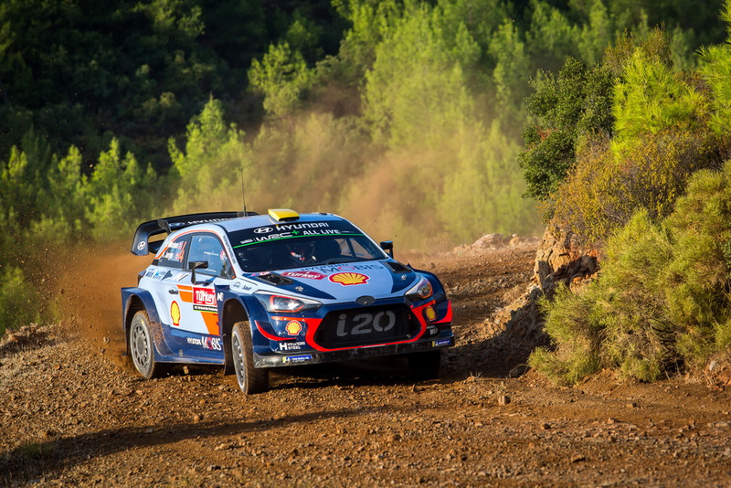
[(418, 329), (406, 306), (364, 307), (325, 315), (314, 341), (328, 349), (376, 345), (406, 341)]

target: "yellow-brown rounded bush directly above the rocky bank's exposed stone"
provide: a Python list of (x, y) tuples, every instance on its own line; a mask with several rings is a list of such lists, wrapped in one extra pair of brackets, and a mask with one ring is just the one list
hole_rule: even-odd
[(642, 134), (625, 154), (609, 140), (587, 143), (556, 192), (553, 216), (587, 244), (600, 244), (638, 211), (667, 217), (695, 171), (719, 164), (715, 139), (704, 132)]

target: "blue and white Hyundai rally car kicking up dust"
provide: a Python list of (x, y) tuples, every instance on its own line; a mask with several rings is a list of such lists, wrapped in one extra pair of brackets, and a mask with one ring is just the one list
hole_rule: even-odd
[(168, 217), (137, 228), (132, 254), (148, 253), (138, 285), (122, 288), (127, 353), (143, 377), (170, 364), (221, 365), (256, 393), (270, 368), (406, 355), (411, 374), (429, 378), (454, 345), (439, 279), (343, 217)]

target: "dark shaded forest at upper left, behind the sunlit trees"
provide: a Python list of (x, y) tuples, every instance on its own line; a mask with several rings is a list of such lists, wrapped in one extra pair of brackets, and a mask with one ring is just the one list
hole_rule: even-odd
[[(159, 170), (165, 141), (185, 132), (209, 95), (250, 104), (246, 70), (272, 41), (289, 36), (313, 55), (332, 54), (344, 27), (325, 0), (6, 0), (0, 120), (14, 125), (0, 132), (0, 154), (33, 124), (57, 154), (74, 144), (89, 163), (110, 132)], [(259, 112), (239, 113), (250, 123)]]

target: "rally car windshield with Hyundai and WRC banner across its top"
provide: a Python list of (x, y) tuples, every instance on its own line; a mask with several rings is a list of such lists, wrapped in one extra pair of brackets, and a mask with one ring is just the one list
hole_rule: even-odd
[(245, 272), (288, 270), (362, 260), (382, 260), (384, 252), (358, 229), (341, 222), (245, 229), (229, 233)]

